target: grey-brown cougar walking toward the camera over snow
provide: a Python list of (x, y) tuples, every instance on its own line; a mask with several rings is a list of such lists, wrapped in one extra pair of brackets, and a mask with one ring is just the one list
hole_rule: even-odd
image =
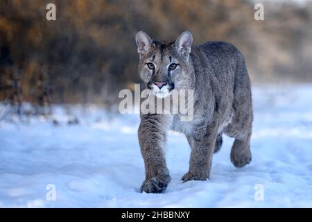
[(171, 181), (164, 157), (169, 129), (186, 135), (191, 146), (183, 182), (209, 179), (223, 133), (235, 138), (230, 153), (235, 167), (252, 160), (252, 95), (242, 53), (226, 42), (192, 42), (189, 31), (171, 43), (152, 40), (143, 31), (136, 35), (142, 88), (155, 98), (166, 98), (173, 89), (193, 89), (191, 121), (181, 121), (180, 114), (140, 114), (138, 137), (146, 176), (141, 191), (146, 193), (162, 193)]

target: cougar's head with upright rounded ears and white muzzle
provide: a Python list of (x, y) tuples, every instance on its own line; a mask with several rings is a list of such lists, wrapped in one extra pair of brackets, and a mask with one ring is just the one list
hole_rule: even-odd
[[(139, 76), (146, 87), (159, 98), (164, 98), (171, 90), (181, 89), (184, 86), (189, 70), (191, 33), (187, 32), (185, 35), (187, 40), (184, 36), (184, 42), (177, 42), (181, 38), (180, 35), (176, 42), (165, 43), (150, 40), (146, 33), (137, 33), (136, 41), (140, 54)], [(184, 45), (180, 45), (179, 48), (179, 44), (183, 43)]]

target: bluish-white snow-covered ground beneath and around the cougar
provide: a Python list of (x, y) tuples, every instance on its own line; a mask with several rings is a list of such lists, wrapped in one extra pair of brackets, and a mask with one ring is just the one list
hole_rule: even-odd
[(68, 126), (58, 107), (58, 126), (3, 120), (0, 207), (312, 207), (312, 85), (255, 87), (253, 97), (252, 163), (236, 169), (229, 160), (233, 139), (224, 137), (211, 180), (182, 183), (190, 148), (171, 133), (172, 181), (164, 194), (139, 192), (137, 115), (76, 107), (80, 124)]

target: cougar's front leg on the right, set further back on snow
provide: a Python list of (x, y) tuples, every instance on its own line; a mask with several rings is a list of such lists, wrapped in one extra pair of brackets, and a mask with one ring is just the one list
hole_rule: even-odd
[(187, 135), (191, 146), (191, 158), (189, 171), (182, 177), (183, 182), (209, 179), (216, 135), (217, 127), (214, 125), (209, 126), (207, 130), (195, 130), (193, 135)]

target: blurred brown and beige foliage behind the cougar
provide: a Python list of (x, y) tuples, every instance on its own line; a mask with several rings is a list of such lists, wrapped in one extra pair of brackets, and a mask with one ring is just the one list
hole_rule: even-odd
[[(1, 0), (0, 100), (112, 105), (139, 83), (135, 34), (194, 44), (222, 40), (244, 54), (254, 84), (312, 80), (312, 2), (243, 0)], [(46, 20), (55, 3), (57, 20)]]

